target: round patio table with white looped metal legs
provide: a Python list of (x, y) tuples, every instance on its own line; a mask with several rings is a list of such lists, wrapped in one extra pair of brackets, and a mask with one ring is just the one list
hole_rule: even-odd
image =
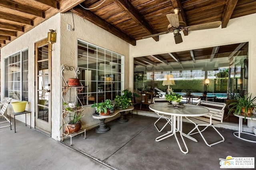
[[(172, 119), (169, 120), (170, 123), (172, 124), (171, 131), (168, 131), (164, 135), (157, 137), (156, 141), (157, 142), (162, 141), (163, 139), (166, 139), (174, 135), (181, 152), (183, 152), (184, 154), (188, 153), (188, 147), (184, 141), (183, 136), (195, 142), (197, 142), (197, 140), (191, 136), (186, 135), (185, 133), (182, 133), (182, 117), (204, 116), (210, 112), (207, 108), (201, 107), (201, 106), (184, 104), (184, 107), (173, 107), (173, 106), (168, 106), (167, 102), (151, 104), (149, 108), (152, 111), (172, 116)], [(176, 120), (177, 120), (177, 127), (176, 127)], [(180, 132), (180, 136), (182, 138), (182, 141), (186, 150), (183, 150), (182, 147), (180, 146), (180, 142), (177, 138), (176, 132)]]

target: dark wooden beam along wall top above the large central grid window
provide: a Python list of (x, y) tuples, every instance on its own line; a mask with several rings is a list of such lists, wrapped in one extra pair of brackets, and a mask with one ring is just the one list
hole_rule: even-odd
[(84, 10), (80, 6), (77, 6), (73, 8), (73, 12), (78, 16), (90, 21), (91, 23), (94, 23), (95, 25), (101, 27), (102, 29), (105, 29), (106, 31), (116, 35), (117, 37), (130, 43), (131, 45), (134, 45), (134, 46), (136, 45), (136, 40), (134, 38), (120, 31), (119, 29), (117, 29), (107, 21), (103, 20), (102, 18), (96, 16), (94, 13), (90, 12), (89, 10)]

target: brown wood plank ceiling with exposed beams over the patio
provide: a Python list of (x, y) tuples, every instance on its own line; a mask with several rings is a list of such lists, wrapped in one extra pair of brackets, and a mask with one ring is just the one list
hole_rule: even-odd
[[(98, 6), (98, 7), (97, 7)], [(185, 26), (221, 21), (221, 27), (228, 27), (228, 21), (256, 13), (255, 0), (1, 0), (0, 1), (0, 48), (17, 37), (28, 32), (36, 25), (73, 8), (78, 16), (89, 20), (102, 29), (136, 45), (142, 37), (167, 31), (169, 21), (166, 14), (180, 8), (179, 21)], [(92, 8), (86, 10), (85, 8)], [(210, 31), (209, 31), (210, 33)], [(172, 33), (170, 33), (172, 34)], [(183, 31), (185, 36), (189, 32)], [(173, 35), (171, 35), (173, 36)], [(183, 35), (182, 35), (183, 36)], [(159, 41), (159, 37), (152, 37)], [(159, 63), (182, 62), (195, 63), (200, 55), (205, 58), (220, 49), (204, 49), (197, 52), (160, 54), (145, 59)], [(229, 52), (232, 48), (230, 47)], [(182, 57), (187, 53), (190, 57)], [(207, 55), (206, 55), (207, 53)], [(226, 53), (226, 51), (225, 51)], [(221, 54), (220, 54), (221, 55)], [(207, 58), (206, 57), (206, 58)], [(144, 61), (140, 61), (143, 63)]]

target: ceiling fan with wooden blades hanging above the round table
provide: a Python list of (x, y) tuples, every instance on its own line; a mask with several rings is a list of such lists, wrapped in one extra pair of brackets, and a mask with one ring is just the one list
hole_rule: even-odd
[(162, 35), (162, 34), (167, 34), (167, 33), (174, 33), (174, 39), (175, 39), (175, 43), (182, 43), (182, 37), (180, 34), (180, 31), (194, 31), (194, 30), (201, 30), (201, 29), (211, 29), (211, 28), (218, 28), (221, 24), (221, 21), (215, 21), (215, 22), (210, 22), (210, 23), (202, 23), (202, 24), (198, 24), (198, 25), (191, 25), (188, 27), (185, 27), (185, 22), (183, 21), (179, 21), (179, 17), (178, 14), (180, 12), (180, 8), (175, 8), (174, 10), (174, 14), (167, 14), (166, 17), (169, 21), (169, 25), (168, 25), (168, 31), (166, 32), (162, 32), (162, 33), (157, 33), (157, 34), (153, 34), (153, 35), (148, 35), (146, 37), (142, 37), (143, 39), (149, 38), (149, 37), (155, 37), (158, 35)]

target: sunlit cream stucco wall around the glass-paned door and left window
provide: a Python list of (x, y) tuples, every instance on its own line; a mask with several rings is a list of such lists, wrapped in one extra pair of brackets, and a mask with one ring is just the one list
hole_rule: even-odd
[[(57, 33), (57, 42), (60, 41), (60, 14), (57, 14), (48, 20), (44, 21), (40, 25), (34, 27), (29, 32), (25, 33), (24, 35), (18, 37), (8, 45), (2, 47), (1, 49), (1, 92), (4, 92), (4, 58), (17, 53), (18, 51), (28, 48), (28, 102), (26, 106), (26, 110), (32, 111), (32, 127), (35, 126), (35, 120), (34, 120), (34, 112), (35, 112), (35, 55), (34, 55), (34, 48), (35, 43), (47, 38), (47, 34), (49, 32), (49, 29), (54, 29)], [(53, 62), (52, 65), (59, 65), (60, 63), (60, 53), (59, 50), (60, 45), (58, 43), (55, 43), (53, 45)], [(52, 91), (56, 90), (56, 87), (54, 88), (52, 86)], [(59, 88), (58, 88), (59, 90)], [(54, 96), (54, 95), (53, 95)], [(4, 93), (1, 93), (1, 99), (4, 98)], [(14, 100), (12, 100), (14, 102)], [(8, 108), (8, 113), (13, 112), (12, 107)], [(25, 116), (17, 116), (16, 119), (25, 122)], [(27, 117), (27, 121), (30, 121), (30, 117)]]

